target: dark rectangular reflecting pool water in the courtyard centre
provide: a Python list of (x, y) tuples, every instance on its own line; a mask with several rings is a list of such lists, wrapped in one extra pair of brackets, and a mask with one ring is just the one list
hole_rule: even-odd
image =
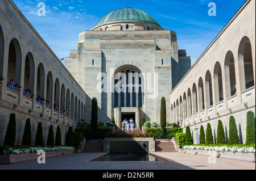
[(92, 160), (96, 161), (166, 161), (150, 154), (108, 154)]

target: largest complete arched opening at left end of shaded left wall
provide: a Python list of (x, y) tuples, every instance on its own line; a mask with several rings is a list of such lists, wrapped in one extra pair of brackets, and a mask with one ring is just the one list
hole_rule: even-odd
[(14, 79), (14, 83), (20, 85), (22, 69), (22, 53), (17, 39), (13, 39), (9, 46), (7, 81)]

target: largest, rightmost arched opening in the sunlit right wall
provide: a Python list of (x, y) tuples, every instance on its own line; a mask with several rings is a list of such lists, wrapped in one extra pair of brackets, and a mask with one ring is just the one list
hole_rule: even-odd
[(251, 42), (247, 36), (243, 37), (238, 49), (238, 65), (243, 69), (239, 70), (241, 91), (254, 86), (253, 56)]

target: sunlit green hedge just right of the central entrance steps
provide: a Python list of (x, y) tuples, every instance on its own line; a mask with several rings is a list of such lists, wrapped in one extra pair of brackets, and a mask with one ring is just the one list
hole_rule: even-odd
[[(183, 128), (166, 128), (166, 131), (169, 131), (170, 134), (168, 134), (169, 138), (175, 137), (176, 133), (183, 133)], [(147, 133), (154, 133), (155, 139), (166, 139), (167, 135), (165, 135), (161, 128), (146, 128)]]

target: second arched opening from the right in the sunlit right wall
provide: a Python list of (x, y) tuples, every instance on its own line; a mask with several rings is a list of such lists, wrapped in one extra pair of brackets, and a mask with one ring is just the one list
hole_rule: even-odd
[(231, 51), (226, 53), (225, 57), (225, 78), (226, 78), (226, 97), (229, 98), (232, 95), (235, 95), (236, 90), (236, 69), (234, 65), (234, 56)]

